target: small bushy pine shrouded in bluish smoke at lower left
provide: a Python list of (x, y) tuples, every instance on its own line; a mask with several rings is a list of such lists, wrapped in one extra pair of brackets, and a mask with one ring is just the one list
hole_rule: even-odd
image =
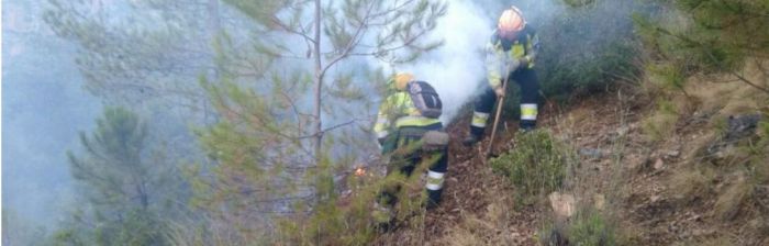
[(163, 153), (152, 152), (146, 128), (135, 113), (105, 108), (93, 134), (80, 134), (85, 153), (67, 156), (86, 202), (54, 235), (59, 243), (165, 244), (164, 203), (179, 190)]

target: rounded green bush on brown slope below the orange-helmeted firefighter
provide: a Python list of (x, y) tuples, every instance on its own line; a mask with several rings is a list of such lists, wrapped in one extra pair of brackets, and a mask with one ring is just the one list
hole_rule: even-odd
[(560, 188), (571, 152), (543, 130), (521, 134), (517, 141), (515, 148), (491, 160), (492, 169), (508, 177), (520, 198)]

